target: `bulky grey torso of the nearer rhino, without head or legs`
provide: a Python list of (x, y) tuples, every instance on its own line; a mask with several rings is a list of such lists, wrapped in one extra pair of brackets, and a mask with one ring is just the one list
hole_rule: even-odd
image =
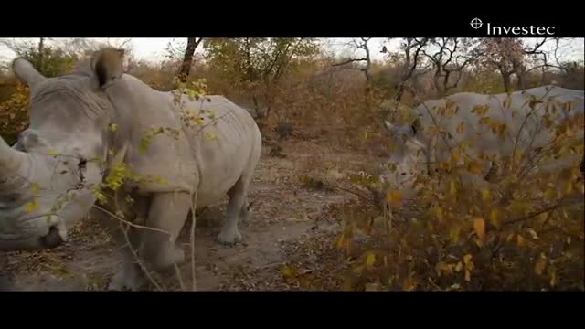
[[(209, 101), (184, 96), (177, 104), (173, 92), (153, 90), (131, 76), (109, 92), (118, 111), (126, 113), (120, 130), (131, 132), (125, 159), (133, 173), (165, 181), (162, 186), (141, 183), (140, 192), (197, 191), (199, 205), (205, 206), (225, 196), (260, 157), (261, 135), (250, 113), (222, 96)], [(163, 133), (153, 134), (161, 128)]]

